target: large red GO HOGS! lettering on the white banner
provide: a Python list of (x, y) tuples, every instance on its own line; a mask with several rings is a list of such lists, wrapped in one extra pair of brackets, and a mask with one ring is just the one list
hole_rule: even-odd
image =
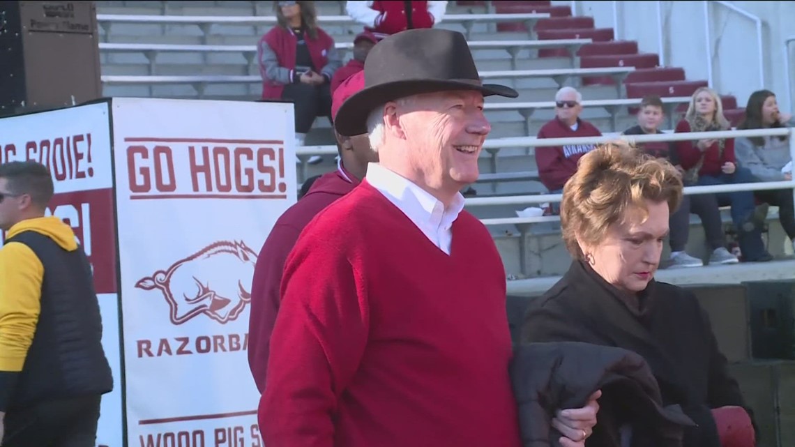
[[(131, 199), (285, 198), (283, 142), (211, 138), (125, 138), (125, 142), (136, 143), (127, 147)], [(176, 163), (184, 162), (180, 160), (185, 159), (185, 151), (188, 165), (180, 169)], [(187, 176), (180, 181), (174, 176), (183, 169), (190, 172), (190, 186), (177, 185), (187, 183)]]

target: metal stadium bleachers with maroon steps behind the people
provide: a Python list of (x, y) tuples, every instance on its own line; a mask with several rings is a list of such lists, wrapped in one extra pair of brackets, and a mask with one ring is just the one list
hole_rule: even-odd
[[(275, 21), (271, 2), (97, 5), (105, 95), (260, 97), (262, 84), (254, 45)], [(344, 2), (316, 5), (320, 25), (339, 48), (349, 49), (361, 27), (341, 15)], [(563, 4), (453, 1), (438, 26), (466, 33), (483, 77), (513, 85), (519, 91), (518, 99), (487, 102), (493, 130), (481, 156), (482, 177), (474, 185), (478, 196), (469, 200), (468, 209), (491, 228), (507, 273), (516, 278), (537, 278), (511, 281), (509, 287), (513, 291), (544, 290), (569, 262), (556, 224), (517, 222), (516, 210), (532, 206), (527, 201), (478, 201), (545, 192), (537, 181), (533, 158), (533, 150), (543, 148), (534, 148), (537, 142), (528, 137), (553, 117), (555, 91), (562, 85), (578, 87), (584, 97), (582, 117), (604, 134), (613, 134), (634, 124), (634, 115), (630, 115), (633, 106), (647, 94), (664, 98), (666, 126), (672, 129), (692, 92), (707, 82), (688, 80), (682, 68), (657, 67), (656, 54), (639, 52), (634, 41), (614, 41), (613, 29), (595, 28), (592, 17), (571, 17), (571, 7)], [(727, 118), (737, 122), (743, 109), (732, 96), (722, 99)], [(316, 120), (306, 141), (308, 146), (298, 150), (304, 161), (313, 154), (325, 156), (320, 165), (303, 163), (300, 179), (331, 169), (336, 150), (330, 146), (328, 126), (327, 120)], [(775, 214), (770, 217), (770, 251), (782, 255), (785, 236), (778, 219), (772, 219)], [(695, 217), (692, 223), (699, 225)], [(704, 255), (702, 238), (703, 231), (692, 231), (692, 247), (688, 249), (694, 255)], [(731, 282), (738, 282), (757, 274), (795, 278), (795, 262), (703, 267), (688, 269), (687, 278), (683, 274), (677, 272), (676, 278), (665, 279), (688, 283), (731, 278)]]

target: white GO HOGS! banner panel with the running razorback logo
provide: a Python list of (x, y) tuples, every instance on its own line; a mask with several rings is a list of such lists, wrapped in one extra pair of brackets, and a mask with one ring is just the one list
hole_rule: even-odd
[(112, 107), (128, 443), (260, 447), (248, 303), (295, 202), (293, 105)]

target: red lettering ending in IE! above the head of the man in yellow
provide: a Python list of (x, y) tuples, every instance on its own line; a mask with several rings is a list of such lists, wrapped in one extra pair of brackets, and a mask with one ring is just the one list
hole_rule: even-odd
[[(17, 154), (13, 143), (0, 145), (2, 162), (38, 161), (47, 166), (55, 181), (94, 177), (91, 165), (91, 134), (75, 134), (25, 142), (25, 154)], [(20, 158), (19, 155), (24, 155)]]

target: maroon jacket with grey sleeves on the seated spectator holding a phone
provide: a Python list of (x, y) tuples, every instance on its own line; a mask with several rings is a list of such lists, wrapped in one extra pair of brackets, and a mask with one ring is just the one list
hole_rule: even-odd
[[(316, 39), (310, 38), (309, 33), (304, 33), (304, 41), (309, 50), (309, 56), (312, 57), (312, 64), (316, 70), (322, 71), (328, 64), (327, 55), (334, 47), (334, 39), (323, 29), (318, 28)], [(259, 40), (260, 45), (258, 45), (258, 48), (262, 46), (263, 42), (276, 53), (280, 67), (289, 68), (290, 70), (296, 68), (297, 38), (292, 30), (276, 25), (262, 36)], [(262, 55), (259, 55), (258, 60), (260, 60), (259, 71), (262, 75), (262, 99), (281, 99), (281, 91), (285, 89), (284, 84), (278, 84), (267, 79), (265, 67), (262, 66)]]

